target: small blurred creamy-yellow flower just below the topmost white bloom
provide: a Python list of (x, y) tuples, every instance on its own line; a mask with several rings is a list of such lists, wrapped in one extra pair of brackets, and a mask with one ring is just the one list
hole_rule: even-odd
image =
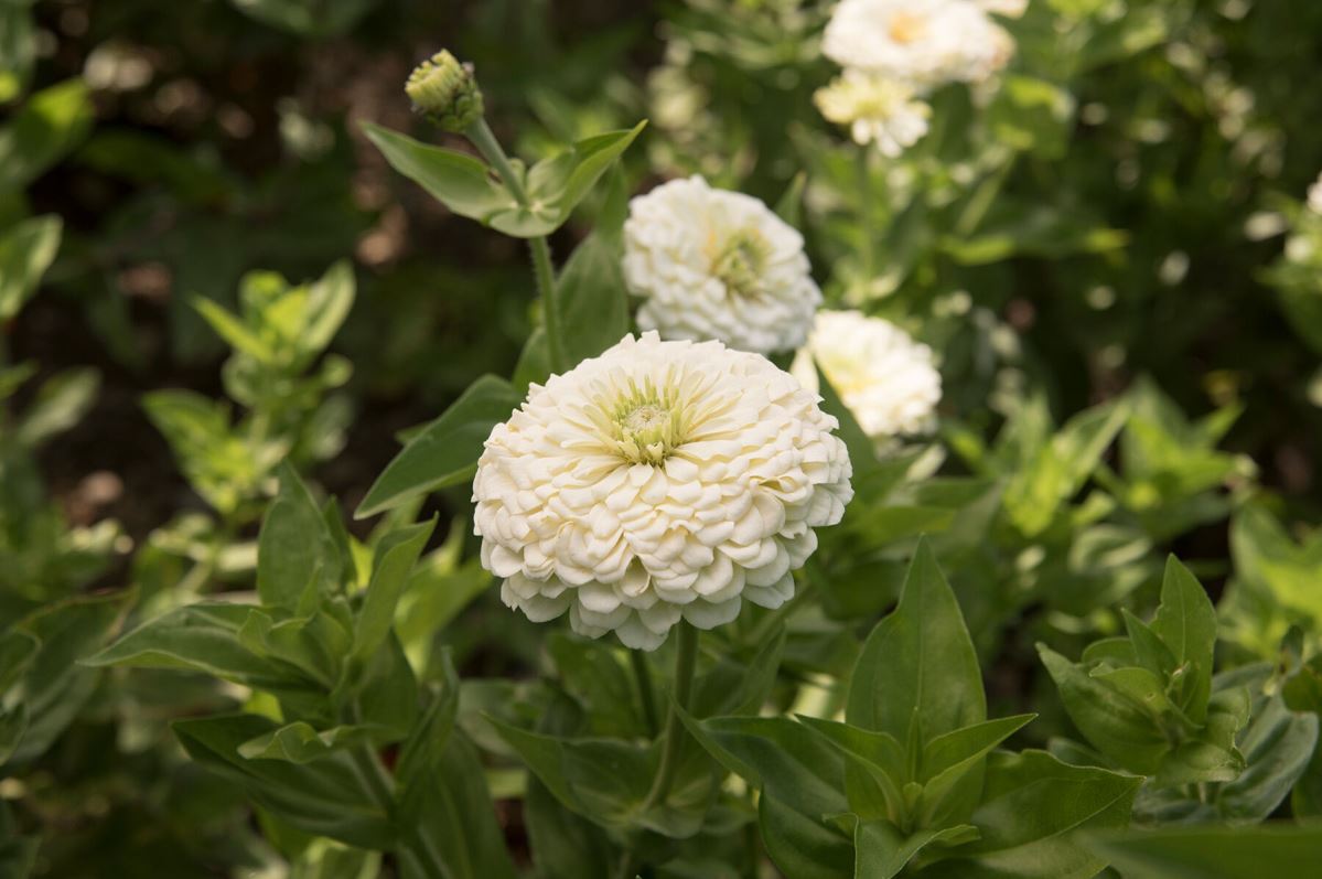
[(829, 122), (849, 126), (854, 143), (873, 141), (895, 157), (927, 134), (932, 108), (914, 98), (912, 86), (886, 75), (846, 70), (813, 95)]

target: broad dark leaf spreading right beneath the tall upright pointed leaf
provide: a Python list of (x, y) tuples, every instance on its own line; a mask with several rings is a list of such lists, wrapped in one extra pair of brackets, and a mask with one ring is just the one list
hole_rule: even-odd
[(980, 838), (924, 876), (948, 879), (1092, 879), (1105, 860), (1075, 831), (1122, 827), (1142, 779), (1071, 767), (1044, 751), (988, 759), (982, 804), (970, 823)]

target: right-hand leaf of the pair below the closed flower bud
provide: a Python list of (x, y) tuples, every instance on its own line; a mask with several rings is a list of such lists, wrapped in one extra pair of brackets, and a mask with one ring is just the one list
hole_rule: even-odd
[(633, 128), (594, 135), (567, 152), (537, 163), (527, 172), (531, 217), (509, 226), (498, 219), (492, 226), (520, 238), (551, 234), (570, 218), (574, 208), (646, 124), (644, 120)]

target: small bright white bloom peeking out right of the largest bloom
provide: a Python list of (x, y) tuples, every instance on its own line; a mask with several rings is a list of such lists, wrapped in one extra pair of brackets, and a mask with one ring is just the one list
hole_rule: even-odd
[(927, 434), (935, 427), (941, 374), (932, 365), (932, 349), (895, 324), (855, 311), (817, 312), (808, 348), (791, 367), (812, 390), (817, 390), (814, 360), (874, 440)]

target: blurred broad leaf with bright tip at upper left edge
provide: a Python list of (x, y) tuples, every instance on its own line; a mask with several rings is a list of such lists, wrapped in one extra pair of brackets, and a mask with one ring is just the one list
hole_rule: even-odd
[(22, 189), (59, 161), (91, 128), (93, 116), (82, 79), (34, 94), (0, 128), (0, 194)]

